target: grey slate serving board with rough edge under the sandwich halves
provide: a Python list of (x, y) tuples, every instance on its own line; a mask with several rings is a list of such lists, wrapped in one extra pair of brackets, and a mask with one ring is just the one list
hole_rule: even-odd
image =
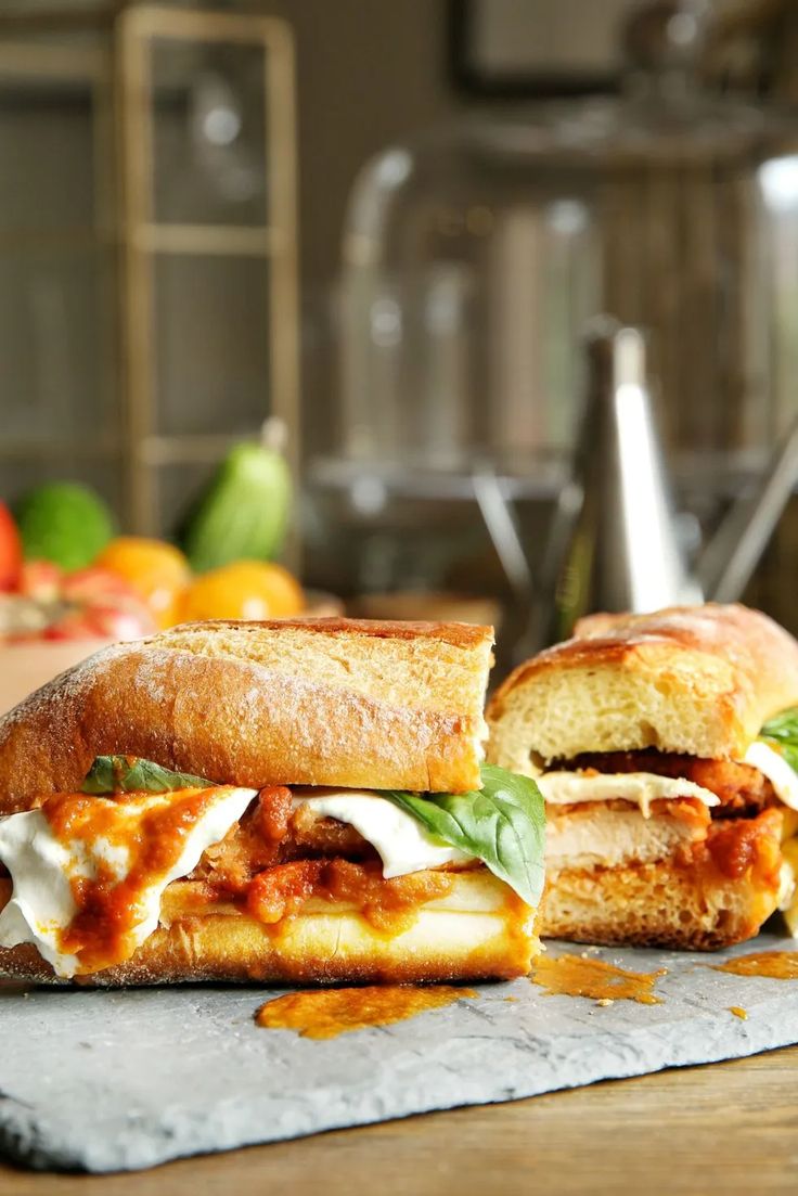
[[(0, 1151), (39, 1168), (136, 1170), (753, 1055), (798, 1042), (798, 982), (707, 965), (794, 946), (761, 935), (714, 956), (589, 948), (634, 971), (666, 968), (663, 1003), (599, 1007), (522, 980), (322, 1042), (258, 1029), (256, 1009), (278, 993), (257, 987), (0, 989)], [(549, 944), (553, 954), (584, 950)]]

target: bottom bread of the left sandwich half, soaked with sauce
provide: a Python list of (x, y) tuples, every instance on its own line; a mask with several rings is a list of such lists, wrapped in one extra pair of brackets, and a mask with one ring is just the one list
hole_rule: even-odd
[[(418, 907), (397, 933), (377, 929), (343, 902), (311, 898), (267, 926), (203, 893), (201, 884), (175, 881), (164, 893), (160, 926), (130, 959), (68, 983), (511, 980), (529, 972), (540, 948), (535, 911), (486, 868), (453, 874), (450, 891)], [(10, 881), (0, 881), (0, 908), (10, 896)], [(30, 945), (0, 948), (0, 975), (65, 983)]]

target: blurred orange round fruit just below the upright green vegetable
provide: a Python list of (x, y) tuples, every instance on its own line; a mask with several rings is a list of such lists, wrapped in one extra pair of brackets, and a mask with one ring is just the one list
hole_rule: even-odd
[(202, 618), (282, 618), (299, 615), (305, 596), (281, 565), (234, 561), (211, 569), (188, 587), (181, 604), (187, 622)]

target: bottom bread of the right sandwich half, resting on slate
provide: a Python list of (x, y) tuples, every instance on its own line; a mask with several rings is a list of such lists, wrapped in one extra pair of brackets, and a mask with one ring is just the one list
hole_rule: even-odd
[(669, 860), (564, 868), (549, 877), (537, 929), (575, 942), (714, 951), (753, 938), (778, 902), (776, 878), (756, 869), (732, 879)]

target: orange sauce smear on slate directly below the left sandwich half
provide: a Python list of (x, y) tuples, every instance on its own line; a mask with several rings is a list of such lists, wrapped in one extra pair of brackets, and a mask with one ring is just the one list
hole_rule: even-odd
[(287, 993), (267, 1001), (255, 1015), (266, 1030), (296, 1030), (303, 1038), (335, 1038), (351, 1030), (390, 1026), (427, 1009), (441, 1009), (463, 996), (476, 996), (471, 988), (437, 984), (385, 984), (379, 988), (329, 988)]

